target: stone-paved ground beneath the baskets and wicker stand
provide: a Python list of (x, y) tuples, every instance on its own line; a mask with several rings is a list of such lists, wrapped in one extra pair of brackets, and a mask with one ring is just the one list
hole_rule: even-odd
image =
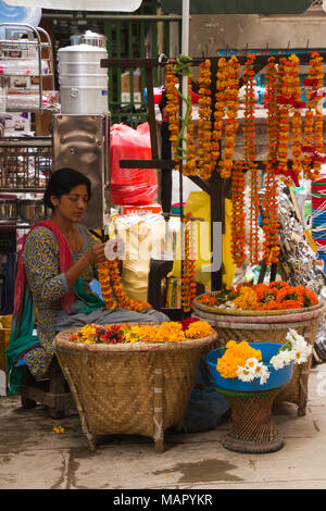
[[(274, 407), (285, 446), (277, 452), (226, 450), (227, 421), (216, 429), (165, 434), (165, 452), (149, 438), (102, 438), (88, 449), (79, 417), (48, 416), (42, 407), (21, 408), (18, 397), (0, 397), (0, 489), (326, 489), (326, 364), (313, 367), (306, 415)], [(61, 425), (63, 434), (53, 433)]]

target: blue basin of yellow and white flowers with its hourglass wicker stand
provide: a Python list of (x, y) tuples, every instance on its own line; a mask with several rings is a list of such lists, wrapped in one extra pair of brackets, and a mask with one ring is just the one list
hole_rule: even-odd
[(237, 452), (274, 452), (284, 446), (273, 420), (272, 406), (291, 379), (293, 369), (306, 362), (312, 347), (290, 329), (285, 342), (229, 340), (206, 356), (216, 389), (231, 410), (223, 446)]

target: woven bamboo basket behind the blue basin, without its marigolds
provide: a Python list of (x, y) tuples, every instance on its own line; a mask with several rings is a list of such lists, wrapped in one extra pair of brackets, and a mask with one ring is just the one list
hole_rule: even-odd
[[(296, 329), (306, 342), (314, 346), (318, 325), (326, 313), (326, 304), (319, 301), (317, 306), (296, 311), (268, 311), (271, 313), (244, 314), (244, 311), (234, 313), (212, 312), (212, 307), (193, 304), (193, 317), (208, 321), (218, 334), (218, 345), (228, 340), (248, 340), (251, 342), (284, 344), (289, 328)], [(255, 312), (255, 311), (253, 311)], [(308, 382), (312, 357), (303, 364), (294, 364), (292, 378), (278, 394), (276, 401), (288, 401), (298, 406), (298, 415), (305, 415), (308, 401)]]

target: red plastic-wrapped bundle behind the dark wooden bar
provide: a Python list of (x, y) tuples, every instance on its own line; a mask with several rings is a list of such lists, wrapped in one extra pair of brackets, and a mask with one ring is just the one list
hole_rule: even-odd
[(111, 146), (111, 202), (118, 205), (150, 204), (158, 190), (155, 169), (121, 169), (120, 160), (151, 160), (149, 124), (134, 129), (113, 124)]

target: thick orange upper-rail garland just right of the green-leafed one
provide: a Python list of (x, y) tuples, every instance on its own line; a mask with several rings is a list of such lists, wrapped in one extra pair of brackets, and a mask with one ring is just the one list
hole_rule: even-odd
[(209, 179), (214, 170), (214, 161), (211, 158), (212, 92), (211, 61), (209, 59), (205, 59), (199, 65), (198, 85), (198, 169), (200, 177)]

